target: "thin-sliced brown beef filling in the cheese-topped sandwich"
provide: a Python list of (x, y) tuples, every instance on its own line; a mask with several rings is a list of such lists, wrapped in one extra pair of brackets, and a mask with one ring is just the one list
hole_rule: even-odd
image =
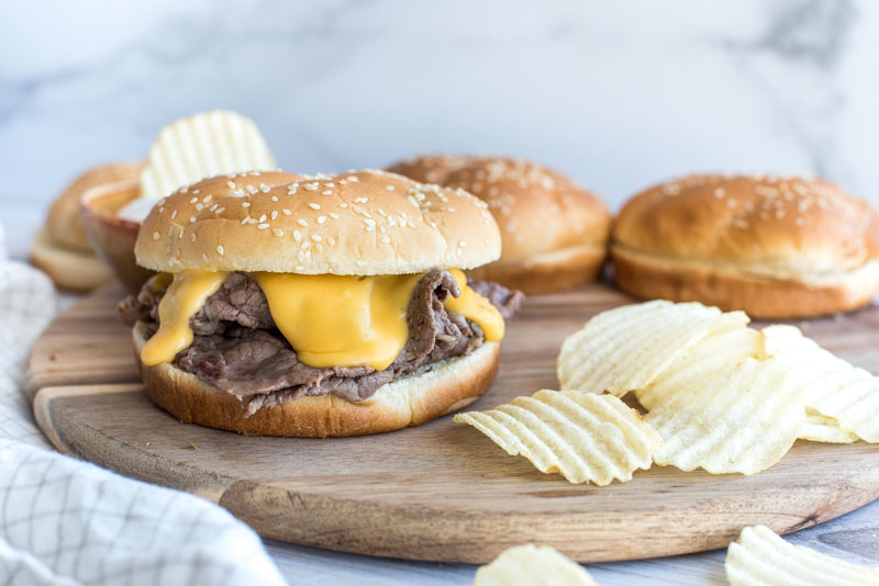
[[(512, 315), (522, 301), (520, 292), (494, 283), (470, 283), (475, 285), (504, 317)], [(256, 281), (246, 273), (231, 273), (190, 320), (194, 339), (177, 354), (175, 364), (240, 397), (246, 415), (309, 395), (364, 401), (399, 376), (481, 346), (481, 328), (443, 306), (449, 295), (459, 294), (448, 272), (430, 270), (415, 286), (407, 311), (409, 339), (390, 367), (381, 371), (368, 365), (318, 369), (297, 359), (296, 350), (275, 327)], [(157, 322), (162, 295), (148, 282), (136, 298), (130, 296), (120, 304), (123, 320)]]

